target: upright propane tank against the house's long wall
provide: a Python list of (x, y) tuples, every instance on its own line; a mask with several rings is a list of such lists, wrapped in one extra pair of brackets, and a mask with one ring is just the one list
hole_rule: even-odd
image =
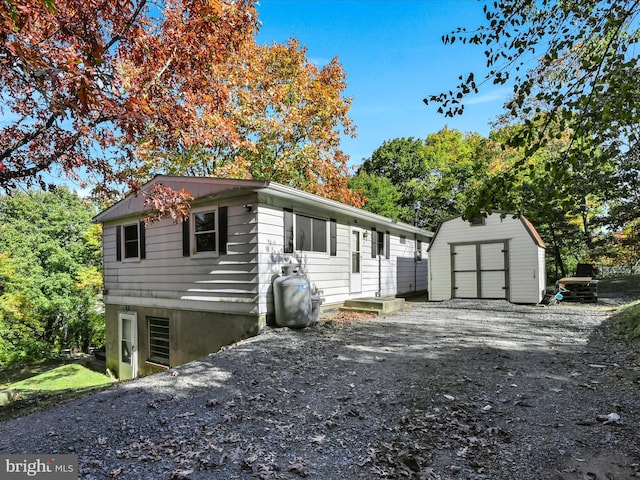
[(273, 282), (273, 300), (277, 326), (304, 328), (311, 324), (311, 285), (299, 274), (297, 265), (282, 267), (282, 276)]

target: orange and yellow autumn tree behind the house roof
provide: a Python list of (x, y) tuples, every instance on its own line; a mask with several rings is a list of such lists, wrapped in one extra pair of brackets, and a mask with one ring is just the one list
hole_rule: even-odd
[(241, 141), (150, 151), (146, 165), (174, 174), (276, 181), (359, 205), (339, 148), (340, 134), (353, 136), (354, 127), (337, 59), (318, 68), (296, 40), (247, 42), (235, 56), (221, 75), (229, 89), (227, 117)]

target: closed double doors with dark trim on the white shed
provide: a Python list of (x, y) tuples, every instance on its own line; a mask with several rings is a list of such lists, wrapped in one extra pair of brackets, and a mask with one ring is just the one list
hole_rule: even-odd
[(451, 245), (452, 298), (509, 299), (509, 242)]

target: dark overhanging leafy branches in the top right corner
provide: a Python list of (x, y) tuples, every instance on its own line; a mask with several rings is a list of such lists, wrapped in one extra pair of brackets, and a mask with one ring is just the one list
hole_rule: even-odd
[[(486, 24), (474, 30), (459, 28), (443, 38), (449, 44), (482, 46), (484, 78), (462, 75), (457, 88), (425, 98), (427, 104), (438, 104), (447, 116), (459, 115), (465, 97), (482, 84), (512, 85), (503, 120), (520, 126), (509, 139), (521, 154), (513, 170), (528, 170), (531, 155), (570, 132), (569, 141), (547, 165), (553, 183), (574, 177), (571, 170), (585, 155), (597, 174), (636, 144), (639, 2), (506, 0), (486, 4), (484, 13)], [(506, 188), (498, 195), (482, 196), (480, 206), (494, 207), (511, 188), (508, 180), (517, 177), (503, 177)]]

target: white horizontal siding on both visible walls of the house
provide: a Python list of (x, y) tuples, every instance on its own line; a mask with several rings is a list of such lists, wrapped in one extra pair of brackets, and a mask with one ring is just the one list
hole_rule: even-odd
[[(140, 305), (179, 310), (267, 315), (273, 313), (273, 280), (282, 265), (302, 265), (312, 290), (324, 304), (336, 304), (352, 298), (350, 292), (350, 231), (357, 226), (363, 235), (361, 245), (362, 290), (356, 296), (396, 295), (427, 288), (426, 254), (415, 261), (415, 234), (391, 231), (390, 258), (385, 254), (371, 258), (371, 228), (386, 232), (384, 225), (354, 223), (338, 211), (311, 208), (295, 213), (325, 219), (326, 248), (323, 252), (284, 253), (284, 206), (267, 198), (240, 197), (232, 202), (212, 200), (212, 205), (227, 207), (227, 252), (216, 255), (183, 256), (182, 224), (171, 220), (151, 223), (145, 232), (146, 259), (141, 262), (116, 262), (116, 225), (104, 226), (105, 303)], [(251, 210), (245, 207), (251, 203)], [(205, 204), (194, 212), (207, 211)], [(336, 218), (336, 255), (330, 255), (330, 225)], [(193, 227), (191, 227), (193, 228)], [(426, 232), (425, 232), (426, 233)], [(404, 243), (400, 235), (404, 235)], [(423, 250), (428, 237), (422, 242)], [(384, 252), (384, 250), (383, 250)]]

